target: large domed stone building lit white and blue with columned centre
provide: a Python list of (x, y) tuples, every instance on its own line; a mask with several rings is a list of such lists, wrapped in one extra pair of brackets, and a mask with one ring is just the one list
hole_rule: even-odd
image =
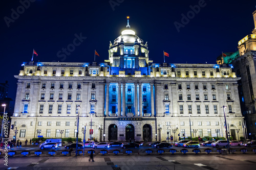
[(147, 43), (129, 23), (110, 43), (104, 63), (24, 62), (15, 78), (12, 124), (20, 140), (37, 137), (37, 130), (44, 137), (59, 138), (59, 130), (64, 130), (62, 137), (75, 137), (78, 112), (78, 137), (83, 138), (86, 125), (90, 138), (92, 126), (98, 141), (154, 141), (171, 135), (177, 141), (179, 135), (190, 136), (189, 118), (191, 130), (197, 129), (193, 137), (214, 137), (217, 129), (224, 136), (222, 106), (228, 107), (231, 132), (242, 129), (240, 78), (231, 66), (153, 63)]

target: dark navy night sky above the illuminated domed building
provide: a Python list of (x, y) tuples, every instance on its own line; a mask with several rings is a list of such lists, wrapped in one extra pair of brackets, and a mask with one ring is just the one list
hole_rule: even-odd
[[(216, 63), (221, 52), (237, 51), (238, 41), (254, 28), (252, 12), (255, 1), (189, 0), (189, 1), (50, 1), (2, 0), (1, 15), (1, 81), (9, 81), (9, 98), (15, 99), (16, 79), (24, 61), (97, 62), (108, 59), (109, 42), (126, 26), (147, 41), (149, 58), (167, 63)], [(22, 7), (25, 3), (26, 8)], [(200, 5), (197, 13), (191, 7)], [(14, 12), (13, 12), (14, 11)], [(15, 15), (19, 12), (19, 16)], [(190, 11), (190, 12), (189, 12)], [(182, 24), (182, 14), (190, 14)], [(179, 32), (178, 32), (179, 31)], [(73, 52), (62, 48), (83, 37)], [(85, 38), (86, 37), (86, 38)], [(60, 52), (59, 52), (60, 51)], [(58, 53), (59, 52), (59, 53)], [(59, 54), (59, 55), (58, 55)]]

